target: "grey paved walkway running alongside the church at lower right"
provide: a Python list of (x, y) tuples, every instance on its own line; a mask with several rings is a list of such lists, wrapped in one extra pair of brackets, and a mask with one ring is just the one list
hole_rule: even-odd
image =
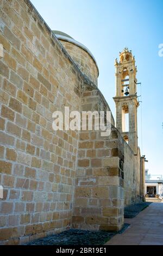
[(163, 245), (163, 203), (152, 203), (135, 218), (124, 219), (130, 226), (105, 245)]

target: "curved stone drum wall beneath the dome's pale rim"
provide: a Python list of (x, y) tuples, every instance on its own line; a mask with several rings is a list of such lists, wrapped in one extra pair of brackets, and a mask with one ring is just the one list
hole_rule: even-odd
[(90, 80), (97, 85), (98, 68), (90, 54), (71, 42), (66, 42), (64, 40), (60, 40), (60, 42), (64, 45), (68, 54), (70, 54), (83, 74), (89, 77)]

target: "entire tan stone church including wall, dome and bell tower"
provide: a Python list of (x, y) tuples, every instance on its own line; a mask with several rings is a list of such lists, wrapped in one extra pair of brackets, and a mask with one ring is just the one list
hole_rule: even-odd
[[(110, 111), (89, 49), (51, 31), (28, 0), (0, 3), (0, 240), (28, 243), (68, 228), (120, 230), (144, 199), (135, 59), (115, 60), (111, 133), (52, 129), (54, 111)], [(128, 127), (126, 120), (128, 118)]]

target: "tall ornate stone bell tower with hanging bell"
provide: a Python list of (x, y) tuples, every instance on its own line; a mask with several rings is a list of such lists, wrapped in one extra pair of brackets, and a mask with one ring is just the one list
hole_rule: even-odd
[(137, 101), (135, 58), (127, 47), (120, 52), (120, 60), (115, 60), (116, 127), (134, 154), (137, 154)]

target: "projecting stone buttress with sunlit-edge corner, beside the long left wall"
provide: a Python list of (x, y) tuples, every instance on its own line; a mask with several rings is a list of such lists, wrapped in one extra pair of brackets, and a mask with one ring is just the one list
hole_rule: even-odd
[[(101, 100), (97, 90), (84, 92), (82, 109), (99, 111), (106, 108), (102, 102), (99, 104)], [(122, 228), (124, 174), (120, 144), (121, 135), (114, 126), (109, 137), (102, 137), (100, 131), (80, 132), (72, 217), (74, 228)]]

